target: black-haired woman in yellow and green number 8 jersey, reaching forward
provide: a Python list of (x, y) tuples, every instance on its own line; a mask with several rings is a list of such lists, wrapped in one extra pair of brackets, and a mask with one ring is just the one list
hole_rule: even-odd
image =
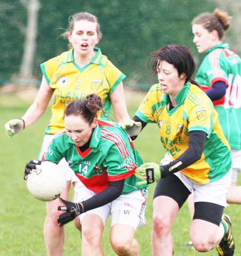
[(139, 185), (159, 180), (154, 193), (152, 255), (173, 255), (171, 226), (193, 190), (193, 246), (206, 252), (232, 244), (229, 254), (223, 255), (233, 255), (230, 222), (228, 216), (222, 219), (231, 181), (231, 152), (217, 112), (191, 80), (195, 63), (186, 47), (170, 45), (157, 50), (152, 68), (159, 84), (149, 89), (133, 119), (143, 127), (147, 123), (159, 126), (161, 143), (172, 159), (165, 165), (145, 163), (135, 170), (144, 180)]

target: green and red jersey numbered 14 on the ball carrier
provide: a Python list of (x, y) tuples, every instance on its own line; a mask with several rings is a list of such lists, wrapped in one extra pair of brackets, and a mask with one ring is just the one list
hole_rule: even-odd
[(140, 180), (134, 170), (143, 162), (130, 137), (115, 123), (99, 121), (84, 152), (65, 131), (57, 134), (43, 160), (58, 163), (63, 157), (81, 182), (96, 193), (106, 189), (109, 182), (121, 179), (125, 179), (123, 194), (146, 187), (135, 185)]

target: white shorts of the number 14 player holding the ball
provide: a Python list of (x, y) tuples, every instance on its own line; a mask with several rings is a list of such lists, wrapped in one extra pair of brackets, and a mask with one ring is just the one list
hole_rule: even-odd
[[(77, 183), (74, 187), (74, 191), (77, 192), (78, 202), (87, 200), (96, 194), (87, 189), (81, 182)], [(108, 216), (111, 215), (111, 226), (114, 224), (127, 224), (137, 229), (138, 226), (146, 224), (146, 199), (147, 189), (136, 190), (129, 194), (120, 195), (120, 197), (107, 205), (80, 214), (80, 223), (87, 214), (96, 214), (101, 217), (105, 224)]]

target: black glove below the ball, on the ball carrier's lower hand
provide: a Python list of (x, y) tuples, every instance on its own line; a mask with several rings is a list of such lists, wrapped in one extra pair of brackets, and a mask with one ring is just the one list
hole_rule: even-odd
[(59, 198), (59, 201), (62, 202), (65, 206), (58, 206), (58, 210), (66, 210), (66, 213), (62, 213), (58, 217), (59, 226), (63, 226), (64, 224), (72, 221), (78, 215), (84, 212), (84, 209), (81, 204), (69, 202), (62, 198)]

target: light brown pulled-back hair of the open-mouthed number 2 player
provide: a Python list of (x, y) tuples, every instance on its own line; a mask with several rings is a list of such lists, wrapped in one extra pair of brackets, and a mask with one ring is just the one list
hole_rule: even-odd
[[(96, 23), (97, 35), (100, 38), (102, 37), (102, 33), (100, 31), (100, 24), (99, 24), (98, 18), (96, 16), (94, 16), (93, 14), (88, 13), (88, 12), (78, 12), (76, 14), (71, 15), (69, 17), (69, 27), (67, 29), (65, 29), (65, 32), (62, 33), (61, 36), (66, 38), (69, 34), (72, 34), (74, 23), (76, 21), (79, 21), (79, 20), (87, 20), (87, 21)], [(71, 48), (72, 48), (72, 44), (69, 43), (69, 49), (71, 49)]]

